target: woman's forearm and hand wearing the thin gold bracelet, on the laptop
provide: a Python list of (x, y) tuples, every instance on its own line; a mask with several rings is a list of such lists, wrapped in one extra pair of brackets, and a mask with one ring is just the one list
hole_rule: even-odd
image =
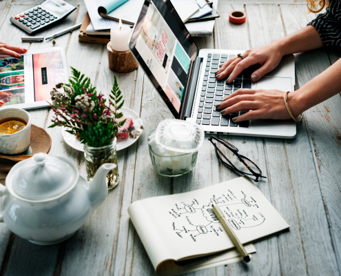
[[(287, 103), (296, 117), (341, 91), (341, 59), (314, 77), (302, 88), (289, 92)], [(285, 92), (279, 90), (239, 89), (217, 105), (217, 110), (229, 115), (240, 110), (251, 110), (234, 119), (235, 122), (249, 119), (291, 119), (285, 107)]]

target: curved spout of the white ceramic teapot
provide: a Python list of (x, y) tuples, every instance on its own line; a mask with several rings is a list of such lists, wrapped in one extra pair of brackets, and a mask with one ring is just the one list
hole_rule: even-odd
[(92, 210), (99, 207), (107, 198), (107, 184), (105, 183), (105, 177), (107, 172), (114, 170), (115, 164), (106, 163), (103, 164), (97, 170), (94, 179), (90, 182), (89, 186), (89, 199), (92, 206)]

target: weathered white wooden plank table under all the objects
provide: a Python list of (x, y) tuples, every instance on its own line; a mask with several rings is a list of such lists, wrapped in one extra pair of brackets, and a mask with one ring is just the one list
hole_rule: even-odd
[[(0, 0), (0, 41), (30, 50), (52, 46), (51, 42), (21, 43), (24, 33), (10, 23), (13, 14), (40, 2)], [(83, 20), (86, 12), (83, 1), (69, 2), (77, 10), (42, 36), (48, 37)], [(231, 10), (245, 10), (247, 23), (231, 25), (228, 21)], [(246, 50), (262, 46), (303, 28), (316, 17), (307, 13), (304, 0), (219, 0), (218, 12), (214, 36), (196, 39), (200, 48)], [(65, 48), (68, 65), (85, 73), (107, 95), (114, 73), (108, 68), (106, 47), (79, 43), (78, 34), (78, 31), (65, 34), (56, 42)], [(324, 48), (296, 55), (296, 88), (339, 57), (340, 52)], [(125, 106), (138, 112), (145, 126), (136, 144), (118, 152), (121, 184), (76, 235), (56, 246), (31, 244), (0, 224), (0, 275), (156, 275), (130, 223), (128, 206), (138, 199), (183, 193), (238, 177), (218, 164), (208, 135), (192, 172), (176, 178), (158, 175), (149, 158), (147, 133), (172, 115), (141, 68), (116, 77)], [(30, 115), (32, 124), (45, 128), (51, 135), (50, 154), (71, 159), (85, 177), (83, 153), (64, 143), (60, 128), (48, 128), (51, 110), (32, 110)], [(222, 136), (265, 172), (267, 180), (257, 185), (289, 223), (290, 230), (257, 242), (257, 253), (249, 265), (219, 266), (192, 275), (340, 275), (340, 95), (304, 112), (303, 117), (295, 139)]]

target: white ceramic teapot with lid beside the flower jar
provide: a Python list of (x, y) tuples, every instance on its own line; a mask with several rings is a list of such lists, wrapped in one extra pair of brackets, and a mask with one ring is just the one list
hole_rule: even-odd
[(103, 164), (87, 182), (68, 159), (37, 153), (13, 166), (6, 187), (0, 184), (0, 222), (34, 244), (63, 242), (103, 204), (105, 177), (114, 168)]

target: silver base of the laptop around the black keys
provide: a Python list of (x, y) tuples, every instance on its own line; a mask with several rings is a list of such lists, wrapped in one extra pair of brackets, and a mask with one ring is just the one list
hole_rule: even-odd
[[(220, 57), (223, 55), (225, 57), (226, 55), (229, 55), (229, 57), (234, 57), (238, 53), (245, 52), (244, 50), (216, 50), (216, 49), (202, 49), (199, 51), (198, 57), (202, 58), (202, 63), (200, 64), (200, 77), (197, 81), (197, 87), (196, 87), (196, 96), (194, 97), (194, 108), (192, 108), (192, 115), (191, 117), (187, 117), (187, 121), (192, 121), (194, 123), (198, 122), (200, 120), (200, 124), (205, 130), (205, 132), (209, 132), (211, 134), (228, 134), (228, 135), (246, 135), (246, 136), (258, 136), (258, 137), (275, 137), (275, 138), (293, 138), (296, 136), (296, 123), (292, 120), (285, 120), (285, 121), (279, 121), (279, 120), (251, 120), (249, 122), (245, 122), (246, 124), (234, 124), (231, 121), (231, 116), (228, 116), (228, 126), (221, 126), (222, 124), (222, 117), (220, 115), (219, 118), (219, 125), (213, 126), (212, 125), (212, 119), (214, 118), (214, 103), (216, 101), (213, 101), (212, 103), (212, 112), (209, 114), (209, 124), (205, 125), (203, 124), (203, 117), (205, 116), (205, 105), (207, 101), (207, 97), (205, 97), (205, 100), (203, 101), (203, 97), (201, 96), (202, 88), (204, 78), (205, 78), (205, 68), (207, 68), (207, 59), (209, 54), (213, 57), (214, 54), (220, 55)], [(211, 61), (212, 58), (211, 58)], [(219, 63), (220, 64), (220, 63)], [(209, 75), (212, 74), (211, 72), (214, 72), (215, 69), (209, 70)], [(207, 74), (206, 74), (207, 75)], [(206, 76), (207, 77), (207, 76)], [(237, 90), (238, 88), (243, 88), (244, 84), (244, 75), (240, 76), (242, 79), (241, 87), (239, 87), (238, 83), (231, 83), (229, 86), (233, 86), (231, 89), (231, 92), (233, 93), (234, 90)], [(209, 80), (208, 76), (208, 80)], [(251, 89), (276, 89), (281, 91), (293, 91), (294, 90), (294, 84), (295, 84), (295, 61), (293, 55), (288, 55), (282, 59), (278, 67), (267, 74), (265, 77), (260, 79), (260, 81), (251, 81)], [(209, 85), (209, 82), (207, 81), (207, 85)], [(226, 85), (224, 85), (226, 86)], [(238, 86), (238, 87), (235, 87)], [(215, 90), (218, 88), (218, 85), (216, 84)], [(249, 87), (247, 87), (249, 88)], [(206, 88), (206, 95), (207, 90), (209, 88)], [(223, 90), (223, 97), (226, 97), (227, 94), (224, 94), (224, 92), (227, 90)], [(216, 93), (218, 91), (216, 90), (214, 93), (214, 99), (217, 97)], [(221, 92), (220, 92), (221, 94)], [(220, 95), (219, 94), (219, 95)], [(229, 93), (231, 94), (231, 93)], [(228, 94), (228, 95), (229, 95)], [(220, 97), (220, 96), (218, 96)], [(203, 105), (203, 110), (200, 110), (199, 106)], [(284, 105), (284, 99), (283, 99), (283, 105)], [(199, 113), (198, 111), (201, 111)], [(200, 118), (200, 119), (198, 119)], [(226, 120), (225, 120), (226, 125)]]

